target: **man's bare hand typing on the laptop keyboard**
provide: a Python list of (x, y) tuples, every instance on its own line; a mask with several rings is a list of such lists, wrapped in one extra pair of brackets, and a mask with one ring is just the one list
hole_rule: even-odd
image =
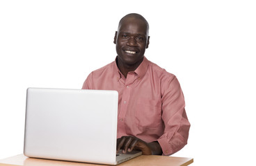
[(122, 149), (122, 153), (131, 152), (133, 149), (141, 150), (144, 155), (162, 154), (159, 142), (147, 143), (134, 136), (122, 136), (117, 140), (117, 152)]

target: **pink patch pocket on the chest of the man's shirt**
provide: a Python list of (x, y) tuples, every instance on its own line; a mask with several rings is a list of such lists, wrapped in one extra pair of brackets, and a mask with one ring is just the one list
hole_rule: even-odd
[(135, 113), (139, 127), (157, 128), (161, 123), (161, 100), (139, 98)]

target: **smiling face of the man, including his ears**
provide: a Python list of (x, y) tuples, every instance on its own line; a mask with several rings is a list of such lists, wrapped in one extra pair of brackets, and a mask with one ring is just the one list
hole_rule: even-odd
[(138, 66), (143, 61), (149, 44), (147, 25), (141, 19), (127, 18), (115, 33), (114, 43), (118, 53), (118, 64)]

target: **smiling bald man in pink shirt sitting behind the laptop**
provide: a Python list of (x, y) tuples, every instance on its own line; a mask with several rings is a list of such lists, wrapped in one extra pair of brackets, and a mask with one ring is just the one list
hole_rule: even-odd
[(118, 56), (88, 75), (83, 89), (118, 91), (118, 145), (124, 153), (174, 154), (186, 145), (190, 124), (175, 75), (148, 61), (149, 26), (141, 15), (123, 17), (115, 32)]

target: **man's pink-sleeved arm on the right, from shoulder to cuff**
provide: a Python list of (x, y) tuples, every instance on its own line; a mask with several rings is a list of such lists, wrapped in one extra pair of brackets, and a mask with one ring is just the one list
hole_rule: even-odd
[(162, 81), (163, 135), (157, 140), (164, 155), (174, 154), (186, 145), (190, 123), (184, 109), (184, 95), (177, 78)]

